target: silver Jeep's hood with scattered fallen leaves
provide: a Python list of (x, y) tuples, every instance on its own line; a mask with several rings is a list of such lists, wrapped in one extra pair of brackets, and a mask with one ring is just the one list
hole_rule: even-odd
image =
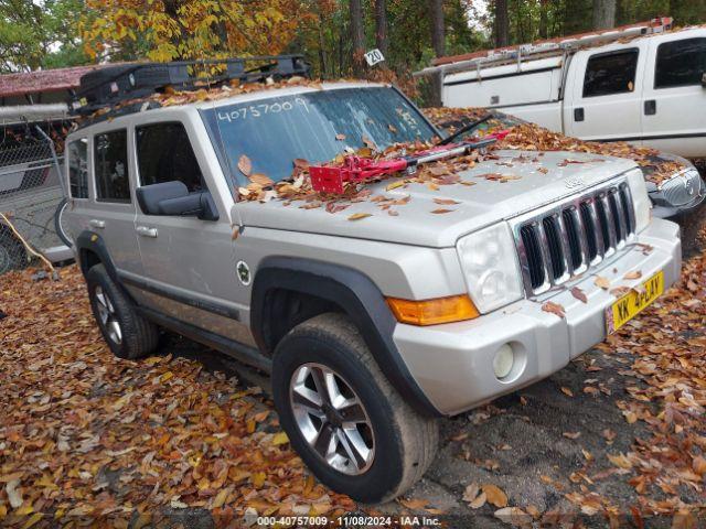
[[(440, 185), (437, 191), (426, 184), (411, 183), (392, 191), (396, 179), (366, 184), (373, 194), (347, 208), (329, 213), (325, 208), (303, 209), (302, 201), (286, 206), (279, 199), (268, 203), (246, 202), (234, 206), (234, 219), (242, 226), (304, 231), (356, 239), (381, 240), (425, 247), (452, 247), (459, 237), (471, 231), (536, 209), (566, 196), (580, 194), (632, 168), (631, 160), (576, 152), (496, 151), (496, 160), (477, 163), (458, 172), (471, 185)], [(580, 163), (567, 163), (580, 162)], [(501, 182), (488, 175), (510, 176)], [(491, 176), (493, 179), (495, 176)], [(409, 196), (405, 205), (392, 206), (392, 216), (371, 201), (376, 195), (389, 198)], [(458, 204), (435, 202), (454, 201)], [(432, 213), (446, 209), (448, 213)], [(354, 214), (370, 214), (349, 220)]]

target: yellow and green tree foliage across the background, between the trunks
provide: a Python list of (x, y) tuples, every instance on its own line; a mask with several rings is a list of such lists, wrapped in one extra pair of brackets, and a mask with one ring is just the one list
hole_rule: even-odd
[[(315, 75), (350, 76), (347, 3), (0, 0), (0, 72), (97, 60), (168, 61), (303, 51)], [(481, 9), (483, 6), (486, 9)], [(363, 0), (367, 48), (375, 47), (374, 8), (375, 0)], [(592, 0), (507, 0), (507, 10), (511, 43), (589, 31), (592, 23)], [(447, 53), (492, 47), (493, 12), (494, 0), (445, 0)], [(676, 24), (704, 23), (706, 0), (618, 0), (618, 24), (666, 14), (674, 17)], [(429, 1), (387, 0), (387, 36), (388, 52), (382, 67), (405, 74), (428, 65), (434, 57)]]

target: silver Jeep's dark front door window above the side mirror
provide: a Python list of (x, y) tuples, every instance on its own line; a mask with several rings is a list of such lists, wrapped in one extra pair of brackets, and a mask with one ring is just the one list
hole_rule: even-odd
[(137, 128), (140, 185), (179, 180), (190, 192), (205, 188), (196, 156), (182, 123)]

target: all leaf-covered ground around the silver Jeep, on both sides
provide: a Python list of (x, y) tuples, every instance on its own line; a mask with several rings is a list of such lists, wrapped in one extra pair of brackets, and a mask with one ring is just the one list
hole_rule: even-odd
[(581, 512), (589, 526), (694, 527), (706, 516), (704, 253), (678, 288), (567, 368), (442, 421), (425, 479), (375, 507), (315, 483), (271, 402), (218, 355), (172, 337), (154, 357), (115, 359), (79, 272), (61, 277), (0, 278), (0, 525), (242, 527), (248, 512), (356, 509), (448, 527)]

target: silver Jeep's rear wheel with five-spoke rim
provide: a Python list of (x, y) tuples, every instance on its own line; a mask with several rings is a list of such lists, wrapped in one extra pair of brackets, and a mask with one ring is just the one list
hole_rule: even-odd
[(157, 325), (137, 313), (130, 299), (113, 281), (103, 264), (88, 270), (86, 284), (93, 315), (115, 356), (136, 359), (157, 349)]

